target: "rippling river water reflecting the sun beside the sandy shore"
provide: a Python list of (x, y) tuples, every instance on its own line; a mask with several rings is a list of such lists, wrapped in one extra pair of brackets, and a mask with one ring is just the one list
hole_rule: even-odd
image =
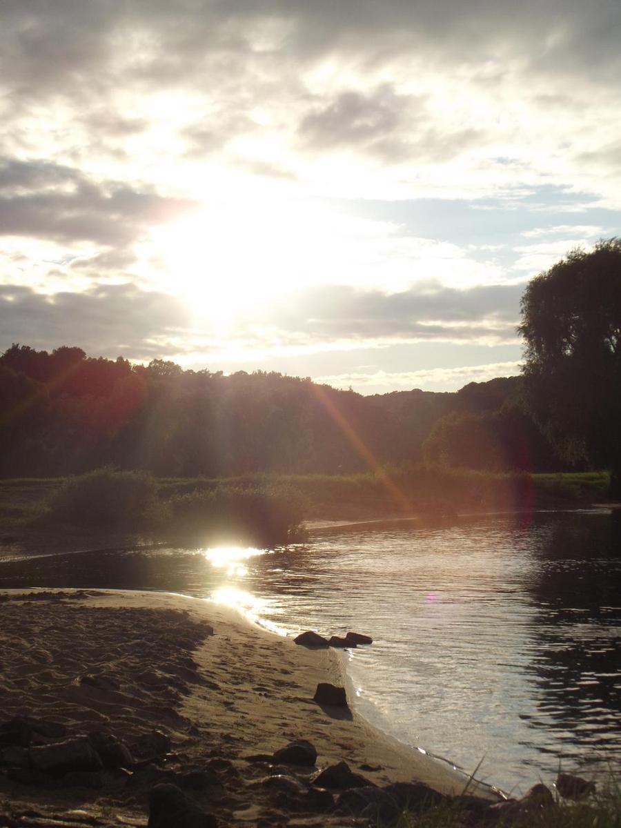
[(215, 596), (345, 654), (368, 720), (498, 787), (621, 760), (621, 514), (462, 518), (281, 551), (135, 550), (0, 564), (3, 586)]

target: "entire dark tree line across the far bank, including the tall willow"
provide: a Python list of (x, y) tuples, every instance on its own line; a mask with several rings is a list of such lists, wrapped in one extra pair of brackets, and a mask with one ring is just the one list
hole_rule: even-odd
[(621, 479), (621, 242), (527, 286), (521, 376), (363, 397), (275, 372), (183, 370), (13, 344), (0, 356), (0, 476), (103, 465), (166, 477), (349, 474), (426, 461)]

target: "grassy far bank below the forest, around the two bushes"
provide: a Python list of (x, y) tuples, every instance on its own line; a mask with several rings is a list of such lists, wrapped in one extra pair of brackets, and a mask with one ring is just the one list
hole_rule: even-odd
[[(59, 493), (70, 485), (70, 480), (0, 480), (0, 532), (17, 531), (36, 522)], [(224, 510), (232, 517), (244, 512), (257, 514), (261, 512), (262, 493), (267, 498), (274, 498), (276, 511), (284, 510), (278, 520), (286, 517), (287, 510), (291, 512), (293, 527), (303, 518), (363, 520), (412, 513), (433, 516), (479, 510), (570, 508), (605, 502), (608, 486), (606, 472), (487, 474), (423, 466), (349, 475), (248, 474), (228, 479), (163, 478), (153, 481), (150, 521), (164, 527), (166, 521), (169, 524), (183, 522), (196, 516), (201, 509), (212, 514)], [(100, 500), (96, 498), (98, 508), (102, 505)], [(121, 500), (128, 501), (128, 498), (123, 496)], [(67, 523), (88, 514), (89, 503), (78, 498), (71, 508), (74, 515), (65, 514)], [(105, 509), (98, 520), (109, 523)]]

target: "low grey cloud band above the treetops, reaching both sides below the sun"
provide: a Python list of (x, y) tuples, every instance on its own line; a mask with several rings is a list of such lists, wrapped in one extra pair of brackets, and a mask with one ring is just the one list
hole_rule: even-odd
[[(423, 284), (387, 296), (347, 286), (321, 286), (289, 296), (281, 306), (239, 320), (236, 335), (220, 345), (213, 332), (191, 328), (187, 307), (130, 284), (84, 293), (38, 294), (0, 286), (0, 349), (12, 342), (37, 348), (79, 344), (89, 354), (152, 359), (200, 350), (218, 353), (231, 344), (248, 350), (335, 341), (513, 341), (523, 286), (480, 286), (467, 291)], [(264, 327), (265, 326), (265, 327)], [(265, 332), (267, 330), (267, 332)], [(174, 343), (174, 344), (171, 344)]]

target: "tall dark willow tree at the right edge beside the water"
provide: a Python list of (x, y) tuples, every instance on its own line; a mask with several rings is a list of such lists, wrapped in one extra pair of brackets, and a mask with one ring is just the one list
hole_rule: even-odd
[(532, 279), (518, 330), (532, 416), (566, 460), (610, 469), (621, 495), (621, 239)]

